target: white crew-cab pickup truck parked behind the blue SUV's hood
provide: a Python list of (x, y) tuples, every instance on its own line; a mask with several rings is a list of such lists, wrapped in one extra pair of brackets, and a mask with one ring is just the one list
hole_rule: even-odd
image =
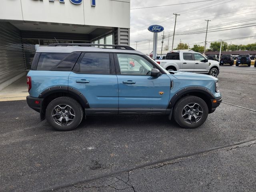
[(203, 73), (214, 77), (220, 73), (218, 61), (208, 60), (202, 54), (194, 51), (169, 52), (165, 59), (155, 61), (169, 71)]

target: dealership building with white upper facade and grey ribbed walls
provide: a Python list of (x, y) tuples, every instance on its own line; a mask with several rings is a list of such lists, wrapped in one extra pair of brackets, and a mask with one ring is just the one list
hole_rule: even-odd
[(130, 0), (1, 0), (0, 90), (26, 74), (37, 46), (129, 38)]

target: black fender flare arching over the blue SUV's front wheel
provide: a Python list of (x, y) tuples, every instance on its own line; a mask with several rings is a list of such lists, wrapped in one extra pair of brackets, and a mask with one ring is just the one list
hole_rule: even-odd
[(209, 99), (214, 99), (214, 94), (212, 94), (212, 92), (209, 89), (202, 86), (188, 86), (178, 90), (174, 94), (174, 96), (170, 99), (168, 108), (173, 108), (175, 103), (181, 98), (182, 95), (189, 94), (192, 92), (202, 93), (205, 94)]

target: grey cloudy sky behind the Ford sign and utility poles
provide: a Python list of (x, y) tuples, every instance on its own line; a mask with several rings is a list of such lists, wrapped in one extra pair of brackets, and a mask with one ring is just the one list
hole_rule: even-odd
[[(170, 4), (180, 5), (162, 6)], [(161, 7), (144, 8), (151, 6)], [(131, 0), (130, 46), (136, 48), (135, 42), (138, 41), (137, 50), (147, 54), (148, 40), (153, 39), (153, 33), (149, 32), (147, 28), (152, 24), (158, 24), (164, 27), (165, 36), (170, 35), (169, 46), (171, 49), (175, 21), (173, 13), (180, 14), (177, 16), (174, 48), (177, 47), (180, 40), (182, 43), (189, 43), (190, 47), (193, 47), (194, 44), (204, 46), (207, 24), (205, 20), (207, 19), (211, 20), (208, 24), (207, 48), (210, 46), (210, 41), (219, 39), (226, 40), (228, 44), (231, 42), (232, 44), (256, 42), (256, 0)], [(226, 30), (230, 28), (237, 29)], [(209, 32), (210, 30), (214, 32)], [(188, 34), (198, 32), (203, 33)], [(158, 38), (162, 37), (162, 34), (162, 32), (158, 33)], [(255, 37), (234, 39), (249, 36)], [(167, 44), (168, 37), (164, 39), (164, 46)], [(150, 52), (152, 47), (153, 43), (150, 42)], [(158, 50), (161, 50), (161, 40), (158, 40)]]

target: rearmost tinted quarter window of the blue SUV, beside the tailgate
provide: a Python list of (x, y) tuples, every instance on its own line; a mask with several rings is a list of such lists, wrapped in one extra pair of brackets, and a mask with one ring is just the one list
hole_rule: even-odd
[(41, 53), (36, 70), (48, 71), (67, 55), (68, 53)]

